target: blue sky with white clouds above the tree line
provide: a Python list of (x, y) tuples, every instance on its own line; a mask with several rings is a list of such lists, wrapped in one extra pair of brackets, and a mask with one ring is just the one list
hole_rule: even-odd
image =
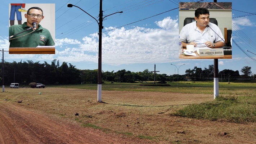
[[(116, 72), (122, 69), (132, 72), (145, 69), (153, 71), (154, 64), (156, 64), (156, 70), (160, 71), (158, 73), (173, 75), (177, 74), (177, 69), (171, 64), (178, 68), (185, 64), (179, 68), (179, 74), (182, 75), (185, 74), (186, 69), (193, 69), (195, 66), (208, 68), (208, 65), (214, 64), (213, 59), (178, 58), (179, 9), (175, 8), (178, 8), (179, 1), (103, 0), (104, 15), (118, 11), (123, 11), (123, 13), (111, 15), (103, 21), (102, 70), (104, 72)], [(186, 2), (193, 1), (196, 0)], [(203, 2), (213, 2), (213, 0)], [(238, 48), (233, 43), (232, 59), (219, 59), (219, 70), (232, 69), (240, 72), (244, 66), (250, 66), (252, 73), (255, 74), (256, 60), (252, 60), (247, 55), (254, 59), (256, 55), (245, 50), (256, 54), (254, 47), (256, 15), (252, 14), (255, 13), (256, 1), (217, 0), (217, 2), (232, 2), (232, 17), (238, 17), (232, 19), (232, 39), (240, 47)], [(1, 3), (1, 50), (9, 50), (9, 3), (35, 3), (35, 1), (10, 0)], [(76, 7), (68, 8), (67, 4), (79, 6), (98, 19), (96, 16), (99, 15), (99, 0), (44, 0), (40, 3), (55, 3), (56, 54), (25, 55), (5, 52), (4, 59), (7, 62), (33, 60), (33, 62), (40, 61), (40, 63), (44, 61), (51, 63), (53, 59), (57, 59), (60, 64), (71, 63), (78, 69), (98, 69), (98, 24), (82, 10)], [(152, 17), (153, 15), (156, 16)]]

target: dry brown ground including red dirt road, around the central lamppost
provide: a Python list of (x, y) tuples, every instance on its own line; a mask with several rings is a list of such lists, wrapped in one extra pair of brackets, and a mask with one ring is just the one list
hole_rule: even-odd
[(170, 116), (188, 104), (213, 100), (209, 94), (103, 91), (98, 103), (96, 90), (5, 91), (0, 93), (0, 143), (256, 143), (255, 123)]

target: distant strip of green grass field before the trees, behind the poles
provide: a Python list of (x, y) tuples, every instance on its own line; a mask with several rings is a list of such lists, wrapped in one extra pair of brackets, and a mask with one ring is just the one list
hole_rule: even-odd
[[(159, 91), (159, 92), (174, 92), (174, 93), (193, 93), (193, 94), (213, 94), (213, 82), (168, 82), (171, 86), (139, 86), (139, 83), (114, 83), (102, 84), (102, 90), (118, 90), (118, 91)], [(51, 86), (49, 86), (51, 87)], [(77, 89), (96, 90), (97, 84), (83, 85), (57, 85), (54, 87), (68, 87)], [(250, 95), (255, 92), (256, 83), (232, 83), (219, 82), (220, 95)]]

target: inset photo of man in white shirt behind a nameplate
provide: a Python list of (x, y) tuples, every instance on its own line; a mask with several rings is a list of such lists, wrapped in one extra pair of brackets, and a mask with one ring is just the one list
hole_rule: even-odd
[(179, 3), (180, 59), (232, 59), (231, 44), (231, 2)]

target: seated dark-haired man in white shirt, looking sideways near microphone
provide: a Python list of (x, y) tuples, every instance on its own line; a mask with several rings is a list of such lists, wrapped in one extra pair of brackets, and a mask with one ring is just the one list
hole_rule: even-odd
[[(210, 23), (210, 13), (208, 9), (196, 9), (195, 19), (195, 22), (186, 24), (180, 31), (180, 39), (183, 48), (186, 48), (187, 45), (208, 48), (220, 48), (224, 46), (224, 41), (222, 40), (224, 38), (220, 28), (216, 24)], [(214, 31), (220, 37), (216, 35)]]

